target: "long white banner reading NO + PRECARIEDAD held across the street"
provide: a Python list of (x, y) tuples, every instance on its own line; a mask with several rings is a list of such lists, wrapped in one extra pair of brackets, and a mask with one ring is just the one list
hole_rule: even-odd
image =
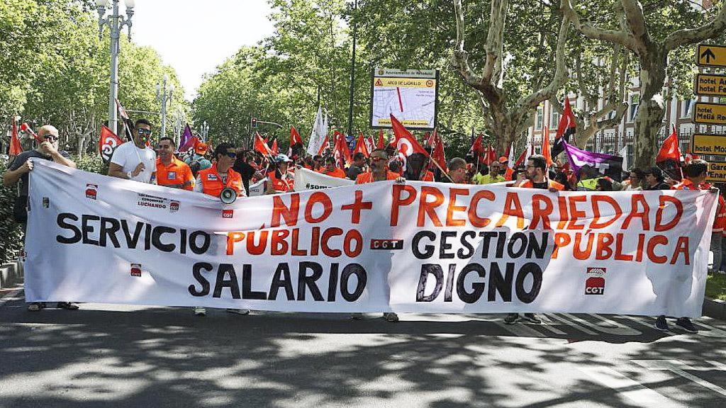
[(380, 181), (216, 197), (46, 160), (28, 301), (696, 317), (714, 193)]

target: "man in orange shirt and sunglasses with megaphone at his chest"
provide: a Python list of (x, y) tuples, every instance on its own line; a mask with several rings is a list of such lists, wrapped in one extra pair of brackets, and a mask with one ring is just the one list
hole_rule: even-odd
[[(219, 197), (225, 204), (232, 204), (237, 197), (246, 197), (242, 185), (242, 176), (232, 169), (237, 152), (232, 144), (223, 142), (214, 149), (214, 163), (210, 168), (197, 173), (197, 184), (194, 191)], [(249, 309), (227, 309), (229, 313), (248, 314)], [(207, 311), (203, 307), (194, 309), (194, 314), (204, 316)]]

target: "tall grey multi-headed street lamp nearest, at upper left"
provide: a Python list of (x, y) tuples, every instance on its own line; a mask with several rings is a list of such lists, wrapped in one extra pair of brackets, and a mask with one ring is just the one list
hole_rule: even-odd
[(126, 4), (126, 18), (118, 14), (118, 0), (110, 0), (113, 14), (104, 18), (109, 0), (96, 0), (98, 8), (98, 38), (103, 38), (103, 27), (108, 26), (111, 37), (111, 86), (108, 96), (108, 127), (113, 133), (118, 134), (118, 111), (116, 110), (116, 98), (118, 97), (118, 38), (121, 36), (123, 26), (129, 28), (129, 41), (131, 41), (131, 17), (134, 15), (134, 0), (124, 0)]

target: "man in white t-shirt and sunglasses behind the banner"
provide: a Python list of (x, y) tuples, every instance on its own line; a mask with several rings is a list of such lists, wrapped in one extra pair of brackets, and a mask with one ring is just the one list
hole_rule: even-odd
[(146, 147), (151, 139), (151, 123), (139, 119), (134, 123), (134, 141), (116, 147), (108, 166), (108, 175), (119, 179), (129, 179), (151, 183), (156, 180), (156, 153)]

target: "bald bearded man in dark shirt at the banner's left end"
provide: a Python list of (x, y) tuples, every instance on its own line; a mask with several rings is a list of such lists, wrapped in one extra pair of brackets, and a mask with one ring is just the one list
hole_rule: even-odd
[[(5, 174), (3, 174), (3, 185), (13, 186), (20, 181), (17, 199), (13, 207), (13, 218), (23, 226), (25, 233), (26, 223), (28, 222), (28, 174), (33, 170), (33, 163), (30, 158), (38, 158), (43, 160), (52, 160), (63, 166), (76, 168), (76, 163), (70, 160), (68, 152), (58, 151), (58, 129), (51, 125), (46, 125), (38, 129), (38, 137), (43, 142), (36, 150), (28, 150), (15, 156), (15, 160), (10, 163)], [(38, 311), (45, 307), (45, 302), (33, 302), (28, 305), (28, 310)], [(58, 309), (76, 310), (78, 306), (70, 302), (58, 302)]]

